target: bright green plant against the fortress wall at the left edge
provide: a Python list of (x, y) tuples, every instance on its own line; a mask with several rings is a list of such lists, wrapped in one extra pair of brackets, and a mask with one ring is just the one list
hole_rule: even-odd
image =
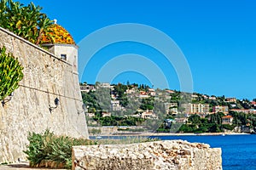
[(19, 88), (23, 78), (23, 67), (13, 54), (6, 54), (6, 48), (0, 48), (0, 100)]

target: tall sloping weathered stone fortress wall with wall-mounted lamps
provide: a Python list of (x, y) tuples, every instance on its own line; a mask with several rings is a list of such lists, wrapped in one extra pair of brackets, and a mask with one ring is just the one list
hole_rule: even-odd
[[(49, 128), (57, 135), (88, 138), (79, 77), (73, 65), (0, 28), (5, 46), (24, 66), (14, 97), (0, 105), (0, 163), (25, 159), (27, 134)], [(55, 98), (60, 105), (53, 111)]]

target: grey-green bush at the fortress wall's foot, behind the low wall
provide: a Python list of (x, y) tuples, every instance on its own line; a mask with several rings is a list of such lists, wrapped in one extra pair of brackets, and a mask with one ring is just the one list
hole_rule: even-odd
[(88, 139), (73, 139), (64, 136), (55, 136), (54, 133), (46, 130), (44, 133), (29, 133), (29, 145), (26, 146), (27, 159), (32, 167), (38, 167), (42, 162), (55, 161), (64, 164), (64, 167), (71, 168), (72, 146), (96, 144)]

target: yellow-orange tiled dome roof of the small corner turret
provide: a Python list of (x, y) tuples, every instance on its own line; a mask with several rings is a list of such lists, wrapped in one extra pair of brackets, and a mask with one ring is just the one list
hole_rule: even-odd
[(65, 43), (65, 44), (75, 44), (73, 37), (70, 33), (60, 25), (53, 24), (49, 26), (49, 32), (47, 34), (42, 34), (41, 42), (45, 43)]

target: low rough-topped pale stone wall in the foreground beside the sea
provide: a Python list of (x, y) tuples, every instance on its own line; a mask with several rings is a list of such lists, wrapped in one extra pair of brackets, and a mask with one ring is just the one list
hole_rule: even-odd
[(83, 169), (220, 170), (221, 149), (183, 140), (73, 146), (73, 170)]

